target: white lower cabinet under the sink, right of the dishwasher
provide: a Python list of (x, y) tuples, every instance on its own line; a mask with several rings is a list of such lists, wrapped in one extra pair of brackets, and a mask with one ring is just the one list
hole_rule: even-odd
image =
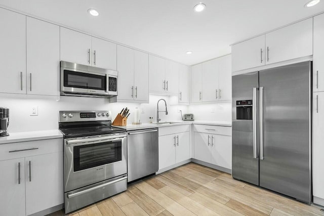
[(159, 170), (190, 159), (189, 137), (189, 125), (159, 128)]

